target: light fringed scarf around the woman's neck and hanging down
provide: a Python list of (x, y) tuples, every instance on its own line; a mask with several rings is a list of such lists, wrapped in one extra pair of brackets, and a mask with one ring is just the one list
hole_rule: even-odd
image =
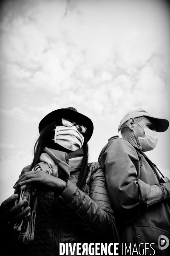
[[(56, 149), (45, 147), (40, 156), (40, 163), (38, 163), (31, 170), (32, 172), (41, 170), (54, 177), (59, 177), (62, 180), (68, 179), (71, 172), (71, 166), (68, 165), (68, 154)], [(28, 169), (26, 169), (28, 171)], [(20, 189), (15, 189), (14, 194), (19, 197), (15, 201), (15, 205), (23, 199), (27, 199), (28, 204), (22, 208), (31, 207), (31, 218), (24, 224), (23, 220), (14, 225), (17, 230), (17, 239), (23, 243), (28, 243), (34, 239), (34, 226), (37, 211), (37, 194), (38, 190), (35, 185), (23, 185)]]

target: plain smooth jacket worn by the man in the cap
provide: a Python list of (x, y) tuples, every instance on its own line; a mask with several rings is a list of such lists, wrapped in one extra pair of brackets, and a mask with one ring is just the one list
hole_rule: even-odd
[[(132, 141), (113, 138), (102, 151), (100, 164), (106, 175), (108, 193), (116, 214), (117, 226), (122, 243), (133, 250), (136, 247), (149, 249), (147, 254), (170, 255), (170, 246), (158, 248), (158, 238), (167, 236), (170, 240), (170, 201), (164, 200), (147, 207), (150, 185), (159, 183), (153, 169), (144, 156), (136, 151)], [(150, 247), (150, 244), (153, 249)], [(131, 250), (131, 253), (132, 253)], [(143, 253), (142, 249), (140, 251)], [(125, 255), (125, 252), (124, 252)], [(129, 255), (126, 252), (126, 255)], [(138, 255), (133, 253), (130, 255)], [(140, 254), (139, 254), (140, 255)]]

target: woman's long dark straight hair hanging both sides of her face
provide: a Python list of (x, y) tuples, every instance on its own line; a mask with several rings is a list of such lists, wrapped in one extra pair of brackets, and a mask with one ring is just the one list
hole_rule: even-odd
[[(54, 129), (56, 121), (49, 123), (45, 128), (40, 132), (40, 136), (38, 137), (35, 145), (34, 145), (34, 159), (31, 163), (31, 169), (36, 166), (37, 163), (40, 163), (40, 155), (42, 154), (43, 149), (49, 143), (49, 138), (51, 137), (51, 131)], [(84, 138), (84, 143), (82, 145), (84, 150), (84, 157), (82, 160), (82, 168), (79, 174), (77, 186), (82, 190), (83, 185), (85, 184), (86, 176), (87, 176), (87, 167), (88, 167), (88, 143), (86, 138)]]

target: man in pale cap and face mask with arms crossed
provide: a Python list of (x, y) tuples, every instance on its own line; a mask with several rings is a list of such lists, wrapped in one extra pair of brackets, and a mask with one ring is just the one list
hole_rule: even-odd
[(144, 154), (168, 126), (142, 108), (129, 111), (120, 137), (109, 139), (100, 153), (123, 255), (170, 255), (170, 181)]

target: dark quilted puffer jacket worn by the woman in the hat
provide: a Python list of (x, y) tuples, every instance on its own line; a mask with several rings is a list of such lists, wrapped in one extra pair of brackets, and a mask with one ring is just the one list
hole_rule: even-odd
[[(30, 166), (26, 166), (22, 172), (28, 169)], [(118, 242), (105, 175), (100, 164), (88, 164), (88, 175), (82, 191), (76, 186), (79, 169), (71, 169), (61, 195), (39, 189), (34, 240), (24, 246), (25, 253), (21, 255), (57, 256), (59, 243)]]

